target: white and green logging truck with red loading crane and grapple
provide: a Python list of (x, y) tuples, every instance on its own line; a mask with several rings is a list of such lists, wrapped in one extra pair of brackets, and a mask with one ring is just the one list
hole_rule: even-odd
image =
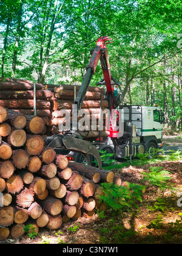
[[(121, 105), (121, 85), (110, 73), (108, 43), (112, 43), (109, 37), (101, 37), (97, 41), (77, 93), (75, 88), (72, 110), (65, 117), (66, 126), (59, 127), (62, 133), (45, 139), (47, 146), (75, 162), (92, 165), (96, 159), (98, 168), (102, 167), (99, 152), (111, 153), (116, 160), (128, 157), (131, 162), (138, 153), (147, 152), (152, 158), (156, 149), (163, 145), (163, 112), (159, 107)], [(100, 99), (99, 118), (92, 120), (91, 130), (90, 117), (83, 111), (83, 102), (99, 60), (104, 79), (98, 85), (105, 85), (107, 92), (104, 99)], [(107, 100), (108, 106), (103, 110), (104, 100)], [(81, 116), (79, 121), (78, 116)]]

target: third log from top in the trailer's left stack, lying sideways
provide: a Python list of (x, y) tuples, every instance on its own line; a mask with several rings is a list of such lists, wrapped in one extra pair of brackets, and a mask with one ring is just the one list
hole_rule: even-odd
[[(33, 99), (1, 99), (0, 106), (10, 109), (33, 109)], [(50, 102), (42, 99), (36, 100), (36, 107), (38, 109), (50, 109)]]

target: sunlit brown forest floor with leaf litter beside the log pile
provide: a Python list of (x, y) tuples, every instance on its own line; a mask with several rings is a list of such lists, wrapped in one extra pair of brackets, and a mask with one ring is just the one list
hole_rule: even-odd
[[(144, 184), (142, 172), (151, 166), (161, 167), (170, 172), (169, 182), (177, 189), (174, 194), (169, 190), (165, 193), (155, 186), (148, 186), (143, 194), (142, 202), (135, 208), (123, 212), (122, 215), (112, 216), (112, 210), (104, 212), (105, 216), (97, 213), (93, 218), (79, 218), (62, 224), (59, 230), (40, 229), (34, 239), (22, 236), (17, 240), (7, 239), (3, 244), (141, 244), (141, 243), (182, 243), (182, 205), (179, 207), (178, 194), (182, 192), (182, 160), (159, 161), (152, 165), (129, 166), (120, 169), (113, 166), (113, 172), (129, 183)], [(181, 193), (182, 195), (182, 193)], [(182, 202), (182, 199), (181, 199)], [(179, 221), (178, 221), (179, 219)], [(152, 226), (151, 226), (152, 224)], [(150, 225), (150, 229), (149, 229)], [(70, 229), (71, 227), (71, 229)], [(152, 227), (152, 228), (151, 228)], [(176, 230), (174, 229), (176, 228)], [(74, 231), (75, 230), (75, 231)]]

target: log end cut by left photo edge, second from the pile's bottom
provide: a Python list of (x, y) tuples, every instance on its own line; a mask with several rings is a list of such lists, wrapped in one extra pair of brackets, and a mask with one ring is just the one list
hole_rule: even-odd
[(14, 221), (14, 209), (12, 206), (0, 207), (0, 226), (8, 227)]

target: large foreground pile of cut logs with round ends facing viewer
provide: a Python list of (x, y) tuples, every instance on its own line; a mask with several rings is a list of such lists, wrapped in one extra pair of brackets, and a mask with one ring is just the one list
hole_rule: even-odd
[(98, 195), (101, 182), (115, 181), (112, 171), (56, 155), (44, 145), (39, 116), (1, 106), (0, 123), (0, 240), (19, 238), (29, 224), (36, 233), (42, 227), (59, 229), (62, 222), (91, 218), (95, 209), (106, 208)]

